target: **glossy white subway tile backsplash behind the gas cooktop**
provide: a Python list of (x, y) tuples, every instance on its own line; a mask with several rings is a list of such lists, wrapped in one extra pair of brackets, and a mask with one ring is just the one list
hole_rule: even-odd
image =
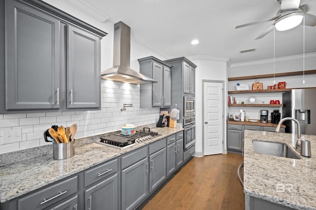
[[(123, 104), (132, 103), (121, 111)], [(0, 134), (4, 129), (21, 129), (22, 141), (10, 143), (2, 138), (0, 153), (49, 144), (43, 139), (43, 132), (52, 125), (71, 126), (77, 123), (76, 139), (120, 130), (123, 124), (136, 126), (155, 123), (159, 108), (140, 108), (139, 85), (110, 80), (101, 82), (101, 110), (62, 111), (22, 114), (0, 114)]]

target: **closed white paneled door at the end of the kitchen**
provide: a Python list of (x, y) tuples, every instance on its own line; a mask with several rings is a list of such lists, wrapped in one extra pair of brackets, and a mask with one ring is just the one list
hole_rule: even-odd
[(203, 83), (204, 155), (223, 153), (223, 83)]

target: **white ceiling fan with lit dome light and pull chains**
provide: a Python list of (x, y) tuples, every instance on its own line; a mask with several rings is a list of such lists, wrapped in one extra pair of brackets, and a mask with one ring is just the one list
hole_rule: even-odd
[[(256, 39), (262, 38), (265, 35), (273, 31), (274, 27), (278, 31), (285, 31), (292, 29), (299, 24), (303, 24), (302, 19), (305, 17), (306, 26), (316, 26), (316, 16), (309, 14), (308, 12), (316, 9), (316, 1), (305, 3), (300, 5), (301, 0), (275, 0), (277, 3), (281, 4), (281, 8), (277, 11), (276, 16), (272, 18), (267, 18), (252, 23), (247, 23), (243, 25), (236, 26), (237, 28), (251, 26), (258, 23), (264, 23), (269, 21), (275, 21), (268, 29), (266, 29), (261, 35)], [(304, 1), (304, 0), (302, 0)], [(305, 0), (306, 1), (306, 0)], [(287, 25), (290, 24), (290, 25)]]

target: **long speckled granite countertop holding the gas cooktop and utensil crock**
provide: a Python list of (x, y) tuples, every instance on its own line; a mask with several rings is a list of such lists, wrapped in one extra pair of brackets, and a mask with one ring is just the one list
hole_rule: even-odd
[[(47, 155), (2, 165), (0, 166), (0, 202), (4, 203), (183, 130), (183, 128), (151, 128), (151, 131), (156, 131), (161, 136), (122, 150), (95, 143), (99, 140), (96, 137), (91, 138), (92, 142), (83, 145), (78, 139), (75, 145), (75, 156), (71, 158), (54, 160), (50, 151)], [(100, 136), (102, 135), (98, 137)], [(15, 159), (18, 158), (18, 156), (15, 157)]]

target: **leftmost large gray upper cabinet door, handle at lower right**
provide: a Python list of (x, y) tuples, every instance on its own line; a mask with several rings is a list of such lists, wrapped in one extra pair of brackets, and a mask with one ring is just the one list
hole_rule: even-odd
[(59, 108), (60, 21), (6, 0), (5, 109)]

